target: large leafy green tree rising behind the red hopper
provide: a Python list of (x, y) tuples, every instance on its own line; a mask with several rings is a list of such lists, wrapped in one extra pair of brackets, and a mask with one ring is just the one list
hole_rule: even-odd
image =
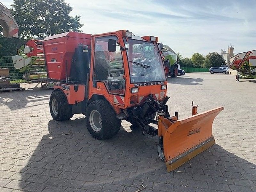
[(19, 25), (19, 35), (23, 38), (45, 36), (67, 31), (79, 31), (80, 16), (68, 14), (72, 7), (64, 0), (14, 0), (12, 16)]

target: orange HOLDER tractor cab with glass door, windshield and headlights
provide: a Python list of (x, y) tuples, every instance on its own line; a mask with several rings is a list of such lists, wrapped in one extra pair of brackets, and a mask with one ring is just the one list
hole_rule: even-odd
[(100, 93), (117, 110), (142, 105), (149, 95), (164, 100), (167, 82), (157, 40), (128, 30), (92, 35), (89, 97)]

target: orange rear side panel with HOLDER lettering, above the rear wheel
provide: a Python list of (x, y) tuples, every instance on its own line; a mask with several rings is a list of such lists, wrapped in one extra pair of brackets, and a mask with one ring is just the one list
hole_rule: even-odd
[(84, 101), (85, 98), (85, 85), (78, 85), (78, 90), (75, 91), (74, 85), (54, 83), (54, 89), (60, 89), (67, 97), (68, 104), (73, 105)]

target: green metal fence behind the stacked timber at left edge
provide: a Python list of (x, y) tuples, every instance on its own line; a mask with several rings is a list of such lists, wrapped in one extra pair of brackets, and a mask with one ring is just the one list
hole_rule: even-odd
[(0, 67), (10, 69), (9, 74), (11, 80), (22, 79), (22, 75), (24, 75), (24, 73), (20, 73), (14, 68), (11, 56), (0, 56)]

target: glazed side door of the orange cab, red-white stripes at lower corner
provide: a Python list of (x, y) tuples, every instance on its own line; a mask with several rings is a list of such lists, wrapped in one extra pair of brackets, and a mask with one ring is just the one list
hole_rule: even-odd
[[(116, 40), (116, 51), (108, 51), (109, 39)], [(100, 36), (94, 39), (92, 92), (105, 95), (109, 102), (124, 105), (124, 61), (118, 38)]]

